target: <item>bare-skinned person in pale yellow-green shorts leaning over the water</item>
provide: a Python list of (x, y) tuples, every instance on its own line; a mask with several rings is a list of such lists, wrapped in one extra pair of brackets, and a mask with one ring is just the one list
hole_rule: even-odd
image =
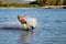
[(26, 15), (18, 15), (18, 20), (22, 23), (22, 25), (25, 29), (29, 29), (29, 26), (31, 26), (31, 29), (34, 30), (34, 28), (25, 21), (25, 18), (26, 18)]

